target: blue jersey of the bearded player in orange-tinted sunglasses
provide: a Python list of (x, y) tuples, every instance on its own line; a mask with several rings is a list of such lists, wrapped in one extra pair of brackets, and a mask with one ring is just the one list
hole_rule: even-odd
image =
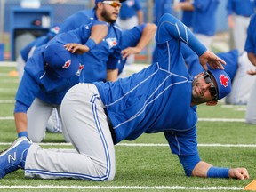
[[(64, 20), (60, 27), (60, 33), (79, 28), (90, 20), (98, 20), (94, 9), (76, 12)], [(116, 23), (110, 24), (108, 35), (96, 46), (96, 49), (79, 55), (80, 62), (86, 68), (80, 76), (80, 82), (106, 81), (107, 69), (117, 68), (121, 56), (121, 33), (122, 31), (116, 26)]]

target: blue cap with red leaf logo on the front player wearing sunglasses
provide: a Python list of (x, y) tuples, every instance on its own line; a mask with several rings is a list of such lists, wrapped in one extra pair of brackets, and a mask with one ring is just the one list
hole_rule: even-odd
[(231, 79), (228, 74), (221, 69), (209, 69), (207, 72), (211, 74), (216, 81), (218, 100), (226, 97), (231, 92)]

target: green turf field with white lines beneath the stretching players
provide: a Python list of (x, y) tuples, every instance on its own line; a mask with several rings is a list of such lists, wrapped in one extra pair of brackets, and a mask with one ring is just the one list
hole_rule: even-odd
[[(0, 65), (0, 150), (16, 139), (13, 121), (18, 77)], [(222, 103), (222, 104), (221, 104)], [(223, 167), (246, 167), (250, 180), (188, 178), (162, 133), (144, 134), (116, 146), (116, 177), (111, 182), (31, 180), (23, 171), (0, 180), (0, 191), (243, 191), (256, 179), (256, 125), (244, 123), (245, 106), (198, 106), (197, 126), (202, 160)], [(60, 133), (46, 133), (43, 148), (72, 148)]]

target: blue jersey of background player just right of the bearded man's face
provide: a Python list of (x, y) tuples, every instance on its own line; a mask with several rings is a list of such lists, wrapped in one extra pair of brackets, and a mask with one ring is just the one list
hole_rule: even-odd
[(119, 18), (121, 20), (127, 20), (137, 15), (137, 12), (141, 10), (139, 0), (126, 0), (122, 3)]

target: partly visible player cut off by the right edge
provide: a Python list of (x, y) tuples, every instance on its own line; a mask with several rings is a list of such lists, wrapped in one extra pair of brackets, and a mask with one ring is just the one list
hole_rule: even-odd
[[(252, 62), (252, 65), (256, 67), (256, 14), (252, 15), (249, 27), (247, 29), (247, 39), (245, 43), (245, 51), (248, 52), (248, 59)], [(256, 70), (248, 71), (249, 75), (256, 75)], [(245, 114), (245, 120), (249, 124), (256, 124), (256, 81), (252, 85), (252, 91), (250, 98), (247, 102), (247, 109)]]

